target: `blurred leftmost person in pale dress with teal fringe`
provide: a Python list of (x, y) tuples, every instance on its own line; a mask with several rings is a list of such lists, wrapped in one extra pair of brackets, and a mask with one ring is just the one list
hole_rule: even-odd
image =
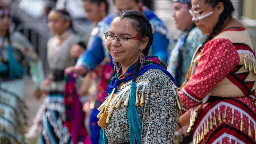
[(19, 32), (11, 32), (9, 7), (0, 6), (0, 143), (25, 143), (27, 115), (24, 103), (24, 65), (40, 93), (44, 72), (33, 46)]

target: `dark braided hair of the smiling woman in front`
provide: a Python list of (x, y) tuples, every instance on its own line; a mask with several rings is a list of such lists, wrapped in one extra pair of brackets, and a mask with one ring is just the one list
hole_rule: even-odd
[[(135, 30), (138, 31), (139, 35), (141, 36), (139, 37), (140, 41), (143, 41), (143, 37), (148, 37), (149, 39), (148, 44), (146, 48), (142, 50), (142, 53), (144, 54), (144, 56), (147, 56), (149, 49), (153, 43), (153, 30), (152, 30), (151, 24), (149, 23), (149, 20), (145, 17), (143, 13), (136, 10), (126, 10), (126, 11), (118, 12), (115, 18), (116, 17), (119, 17), (120, 19), (123, 19), (123, 18), (131, 19), (133, 28), (135, 28)], [(135, 82), (137, 79), (139, 68), (140, 68), (140, 61), (138, 62), (135, 68), (133, 80), (132, 80), (133, 82)]]

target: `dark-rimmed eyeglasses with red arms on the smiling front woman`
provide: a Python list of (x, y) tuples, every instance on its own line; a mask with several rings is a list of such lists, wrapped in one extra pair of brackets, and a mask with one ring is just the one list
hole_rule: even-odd
[(106, 39), (106, 42), (114, 42), (115, 40), (115, 37), (117, 38), (117, 42), (121, 45), (127, 45), (129, 44), (129, 39), (133, 39), (133, 40), (139, 40), (139, 33), (137, 33), (135, 35), (135, 37), (125, 37), (125, 36), (115, 36), (114, 34), (110, 34), (110, 33), (104, 33), (105, 35), (105, 39)]

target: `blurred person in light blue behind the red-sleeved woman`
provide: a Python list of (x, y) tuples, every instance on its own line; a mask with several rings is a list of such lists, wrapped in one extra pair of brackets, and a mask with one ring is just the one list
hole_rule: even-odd
[(180, 87), (185, 80), (193, 54), (203, 43), (204, 36), (192, 22), (192, 16), (188, 11), (191, 9), (191, 0), (175, 0), (172, 6), (175, 26), (182, 32), (175, 45), (171, 44), (173, 47), (169, 54), (167, 71), (172, 74), (177, 86)]

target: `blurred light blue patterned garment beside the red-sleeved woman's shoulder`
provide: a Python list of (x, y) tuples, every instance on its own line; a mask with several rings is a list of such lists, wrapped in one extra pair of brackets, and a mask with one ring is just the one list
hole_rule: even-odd
[(184, 82), (193, 54), (204, 39), (198, 27), (194, 27), (191, 31), (183, 31), (175, 45), (169, 46), (173, 47), (170, 48), (167, 71), (175, 78), (178, 87)]

